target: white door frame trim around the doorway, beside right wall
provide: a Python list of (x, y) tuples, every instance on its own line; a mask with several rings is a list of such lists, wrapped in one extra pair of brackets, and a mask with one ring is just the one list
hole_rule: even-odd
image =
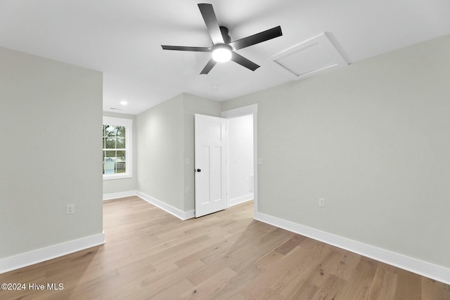
[(253, 115), (253, 214), (254, 216), (258, 211), (258, 141), (257, 141), (257, 115), (258, 105), (252, 104), (248, 106), (238, 107), (233, 110), (225, 110), (221, 113), (221, 117), (225, 119), (231, 119), (235, 117), (243, 117), (247, 115)]

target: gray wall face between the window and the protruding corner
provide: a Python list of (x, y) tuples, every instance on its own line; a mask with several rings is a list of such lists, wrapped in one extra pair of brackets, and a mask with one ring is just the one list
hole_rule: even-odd
[(184, 210), (183, 95), (137, 117), (138, 190)]

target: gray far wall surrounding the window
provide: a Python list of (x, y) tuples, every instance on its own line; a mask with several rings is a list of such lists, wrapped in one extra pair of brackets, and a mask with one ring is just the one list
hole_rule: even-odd
[(122, 193), (128, 191), (135, 191), (137, 189), (137, 128), (136, 128), (136, 116), (135, 115), (126, 115), (126, 114), (118, 114), (115, 112), (103, 112), (103, 116), (105, 117), (117, 117), (123, 119), (132, 119), (133, 120), (133, 177), (132, 178), (122, 178), (122, 179), (110, 179), (103, 181), (103, 194), (112, 194), (112, 193)]

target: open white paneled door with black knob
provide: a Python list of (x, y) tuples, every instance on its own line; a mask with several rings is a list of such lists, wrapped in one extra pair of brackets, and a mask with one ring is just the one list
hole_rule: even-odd
[(195, 217), (226, 209), (226, 119), (195, 114)]

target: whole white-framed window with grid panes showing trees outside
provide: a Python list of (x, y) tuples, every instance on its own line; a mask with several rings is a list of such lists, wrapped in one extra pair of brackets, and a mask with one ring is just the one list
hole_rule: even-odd
[(103, 117), (103, 180), (130, 178), (133, 120)]

